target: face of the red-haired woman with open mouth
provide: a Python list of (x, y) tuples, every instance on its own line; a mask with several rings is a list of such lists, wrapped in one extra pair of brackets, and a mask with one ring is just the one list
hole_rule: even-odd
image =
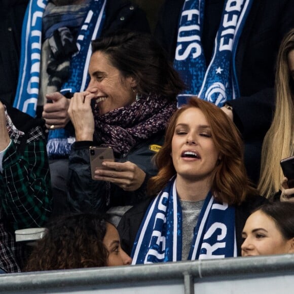
[(188, 108), (178, 117), (172, 138), (172, 161), (177, 176), (211, 181), (218, 157), (204, 114), (199, 108)]

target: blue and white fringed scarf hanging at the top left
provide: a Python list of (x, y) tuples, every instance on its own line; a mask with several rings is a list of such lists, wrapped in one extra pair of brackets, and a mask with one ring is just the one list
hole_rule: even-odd
[[(22, 29), (21, 60), (17, 94), (14, 107), (35, 116), (39, 96), (40, 62), (42, 48), (42, 16), (48, 0), (31, 0), (27, 7)], [(92, 54), (91, 41), (100, 36), (105, 19), (106, 0), (92, 0), (89, 11), (80, 28), (77, 47), (79, 52), (70, 61), (69, 79), (60, 92), (84, 91), (89, 83), (88, 67)], [(47, 151), (50, 158), (59, 158), (69, 153), (71, 142), (64, 129), (49, 131)]]

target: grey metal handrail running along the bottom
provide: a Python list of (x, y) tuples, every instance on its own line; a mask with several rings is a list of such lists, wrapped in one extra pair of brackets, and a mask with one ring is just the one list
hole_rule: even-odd
[(194, 293), (194, 282), (213, 278), (243, 279), (271, 275), (293, 275), (294, 255), (271, 255), (221, 260), (185, 261), (153, 265), (88, 268), (0, 275), (0, 292), (35, 291), (64, 287), (90, 287), (179, 280), (185, 293)]

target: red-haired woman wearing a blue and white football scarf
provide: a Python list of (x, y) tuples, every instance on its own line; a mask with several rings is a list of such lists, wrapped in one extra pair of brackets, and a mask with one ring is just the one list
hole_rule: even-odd
[(149, 181), (158, 196), (130, 209), (118, 227), (133, 263), (240, 255), (250, 209), (265, 201), (247, 179), (234, 123), (210, 102), (192, 98), (172, 116)]

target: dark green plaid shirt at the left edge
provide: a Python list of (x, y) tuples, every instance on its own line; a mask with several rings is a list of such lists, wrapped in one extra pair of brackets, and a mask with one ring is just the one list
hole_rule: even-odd
[(45, 138), (27, 143), (23, 154), (11, 143), (3, 158), (0, 201), (14, 230), (46, 223), (51, 212), (51, 181)]

